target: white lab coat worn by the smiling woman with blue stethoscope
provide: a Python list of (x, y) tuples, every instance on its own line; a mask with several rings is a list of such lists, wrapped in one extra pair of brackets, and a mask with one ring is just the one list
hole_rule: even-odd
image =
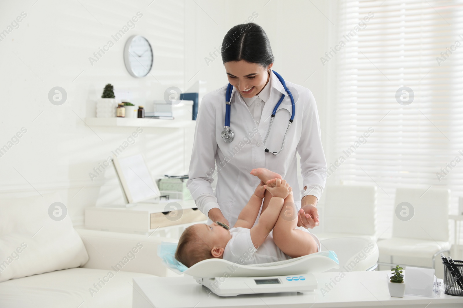
[[(291, 100), (286, 95), (278, 109), (285, 108), (289, 112), (277, 111), (269, 137), (263, 145), (270, 115), (282, 93), (286, 93), (273, 72), (271, 78), (270, 97), (264, 104), (259, 124), (256, 124), (248, 106), (233, 87), (230, 129), (235, 133), (235, 138), (231, 143), (226, 143), (220, 137), (225, 123), (226, 85), (206, 94), (198, 110), (187, 187), (201, 212), (207, 216), (212, 208), (218, 207), (231, 226), (236, 223), (240, 211), (260, 182), (257, 177), (250, 175), (254, 168), (263, 167), (282, 175), (293, 187), (294, 202), (298, 207), (301, 193), (302, 196), (310, 194), (319, 199), (325, 187), (326, 160), (319, 116), (315, 99), (307, 88), (285, 80), (295, 101), (294, 122), (280, 154), (275, 156), (264, 151), (265, 148), (280, 151), (291, 117)], [(299, 185), (296, 174), (296, 151), (300, 155), (302, 185)], [(216, 164), (218, 172), (214, 193), (211, 183)], [(303, 190), (304, 186), (307, 186), (306, 191)], [(217, 202), (198, 202), (201, 199), (198, 197), (206, 196), (204, 194), (215, 195)]]

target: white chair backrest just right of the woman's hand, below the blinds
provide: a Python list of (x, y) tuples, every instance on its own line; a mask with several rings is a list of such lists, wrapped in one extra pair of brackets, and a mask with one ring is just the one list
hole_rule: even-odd
[(310, 230), (320, 240), (360, 236), (376, 242), (376, 186), (331, 185), (323, 195), (323, 231)]

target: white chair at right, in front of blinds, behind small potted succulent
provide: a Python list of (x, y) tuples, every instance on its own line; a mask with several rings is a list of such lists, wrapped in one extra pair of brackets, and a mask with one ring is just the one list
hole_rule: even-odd
[[(405, 202), (405, 203), (404, 203)], [(395, 266), (396, 259), (413, 258), (435, 259), (442, 252), (450, 252), (448, 212), (450, 190), (397, 188), (395, 193), (392, 238), (377, 242), (380, 260), (390, 257), (390, 262), (378, 262), (378, 265)], [(410, 218), (409, 218), (410, 217)], [(401, 264), (407, 266), (407, 264)]]

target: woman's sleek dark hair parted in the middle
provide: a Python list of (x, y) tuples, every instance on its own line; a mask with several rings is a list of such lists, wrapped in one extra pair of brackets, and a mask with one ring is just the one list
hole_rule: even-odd
[(267, 34), (255, 23), (237, 24), (228, 30), (220, 52), (223, 63), (245, 60), (267, 68), (275, 61)]

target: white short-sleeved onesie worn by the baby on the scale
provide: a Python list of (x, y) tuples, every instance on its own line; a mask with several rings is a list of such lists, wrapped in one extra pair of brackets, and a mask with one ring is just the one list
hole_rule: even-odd
[[(297, 228), (300, 229), (299, 227)], [(317, 242), (317, 251), (320, 251), (320, 241), (318, 237), (309, 231), (307, 232), (313, 236), (315, 242)], [(230, 235), (232, 239), (228, 241), (225, 246), (222, 257), (224, 260), (246, 265), (291, 259), (290, 256), (283, 253), (282, 250), (275, 245), (273, 241), (273, 231), (270, 231), (269, 235), (258, 249), (256, 249), (252, 243), (250, 229), (242, 227), (232, 228), (230, 229)]]

